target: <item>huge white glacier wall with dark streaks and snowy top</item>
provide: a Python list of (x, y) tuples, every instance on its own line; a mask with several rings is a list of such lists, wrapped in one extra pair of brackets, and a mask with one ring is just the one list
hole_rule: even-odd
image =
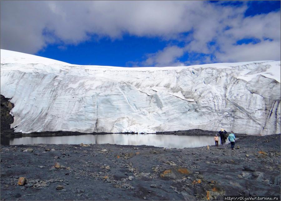
[(1, 50), (1, 94), (22, 133), (280, 133), (280, 61), (125, 68)]

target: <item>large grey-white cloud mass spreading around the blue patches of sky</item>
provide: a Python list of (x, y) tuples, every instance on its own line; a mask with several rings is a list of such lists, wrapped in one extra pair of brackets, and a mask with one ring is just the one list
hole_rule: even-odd
[[(130, 34), (186, 42), (183, 48), (167, 45), (147, 55), (145, 65), (183, 65), (179, 58), (185, 53), (204, 53), (205, 61), (214, 61), (208, 56), (212, 54), (218, 62), (280, 60), (280, 12), (244, 18), (246, 3), (225, 7), (206, 1), (3, 0), (0, 4), (2, 49), (34, 54), (54, 42), (63, 47), (91, 36), (116, 39)], [(184, 32), (191, 34), (183, 37)], [(245, 37), (261, 43), (234, 45)], [(210, 41), (216, 46), (210, 48)]]

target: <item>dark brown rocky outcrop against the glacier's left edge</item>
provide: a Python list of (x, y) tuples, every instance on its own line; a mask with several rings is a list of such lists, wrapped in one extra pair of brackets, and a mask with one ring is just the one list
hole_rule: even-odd
[(1, 136), (3, 135), (13, 135), (14, 130), (10, 128), (10, 125), (14, 122), (14, 117), (10, 114), (10, 111), (14, 107), (9, 100), (9, 98), (5, 98), (5, 96), (1, 96)]

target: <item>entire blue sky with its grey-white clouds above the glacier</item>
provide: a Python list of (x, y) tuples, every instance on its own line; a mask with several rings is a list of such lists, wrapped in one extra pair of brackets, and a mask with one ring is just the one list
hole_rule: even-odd
[(1, 49), (79, 65), (280, 60), (280, 1), (1, 1)]

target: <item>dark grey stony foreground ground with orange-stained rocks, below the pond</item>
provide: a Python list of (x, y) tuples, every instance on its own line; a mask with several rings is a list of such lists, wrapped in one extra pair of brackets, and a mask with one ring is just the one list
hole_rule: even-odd
[[(223, 200), (280, 196), (280, 134), (215, 146), (1, 145), (1, 200)], [(19, 185), (20, 177), (25, 177)]]

